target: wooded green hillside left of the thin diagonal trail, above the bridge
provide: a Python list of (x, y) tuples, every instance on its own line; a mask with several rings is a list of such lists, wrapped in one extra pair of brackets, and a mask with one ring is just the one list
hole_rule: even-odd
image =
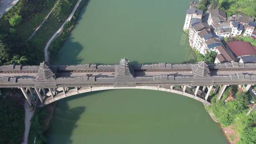
[(56, 0), (20, 0), (0, 19), (0, 65), (38, 64), (39, 48), (27, 39), (44, 20)]

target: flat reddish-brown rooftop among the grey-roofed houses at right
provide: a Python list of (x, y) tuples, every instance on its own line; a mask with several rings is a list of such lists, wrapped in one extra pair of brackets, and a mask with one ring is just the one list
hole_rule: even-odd
[(243, 55), (256, 55), (255, 47), (248, 42), (235, 41), (228, 43), (231, 51), (238, 57)]

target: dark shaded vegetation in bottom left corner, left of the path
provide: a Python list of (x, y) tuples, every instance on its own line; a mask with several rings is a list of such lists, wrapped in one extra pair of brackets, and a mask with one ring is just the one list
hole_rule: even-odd
[(0, 144), (21, 144), (24, 134), (24, 109), (17, 98), (0, 95)]

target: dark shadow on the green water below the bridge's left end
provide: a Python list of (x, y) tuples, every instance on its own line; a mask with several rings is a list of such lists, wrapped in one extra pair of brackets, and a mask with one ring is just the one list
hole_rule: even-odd
[(86, 106), (71, 108), (68, 101), (91, 96), (104, 91), (108, 90), (82, 93), (57, 101), (54, 116), (51, 121), (51, 128), (46, 132), (49, 144), (72, 144), (74, 129), (77, 128), (78, 123), (82, 123), (79, 120), (82, 114), (86, 111)]

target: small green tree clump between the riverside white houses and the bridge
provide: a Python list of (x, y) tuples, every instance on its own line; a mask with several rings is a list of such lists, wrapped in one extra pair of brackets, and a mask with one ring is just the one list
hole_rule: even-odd
[(213, 51), (208, 51), (205, 55), (201, 54), (199, 51), (192, 49), (196, 54), (197, 62), (204, 61), (205, 63), (214, 63), (217, 53)]

